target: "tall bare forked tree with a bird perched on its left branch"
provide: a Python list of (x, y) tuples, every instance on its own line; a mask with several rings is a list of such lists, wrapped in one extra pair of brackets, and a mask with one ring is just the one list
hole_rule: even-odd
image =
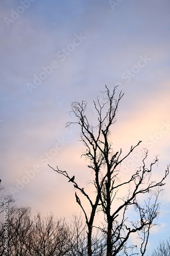
[[(92, 255), (91, 238), (96, 210), (102, 210), (106, 220), (106, 225), (103, 228), (99, 228), (107, 236), (107, 256), (118, 255), (118, 253), (119, 255), (122, 255), (121, 253), (124, 255), (139, 254), (133, 253), (133, 249), (137, 245), (129, 244), (129, 238), (134, 233), (137, 234), (138, 240), (141, 241), (140, 253), (144, 255), (150, 229), (155, 224), (154, 221), (159, 213), (157, 199), (161, 187), (165, 184), (164, 180), (169, 173), (168, 165), (164, 176), (159, 181), (154, 181), (152, 169), (158, 162), (158, 158), (156, 157), (147, 167), (145, 160), (148, 157), (148, 151), (145, 150), (142, 165), (136, 169), (130, 178), (127, 177), (126, 181), (121, 182), (121, 164), (141, 141), (135, 146), (131, 146), (126, 155), (123, 155), (122, 148), (116, 153), (113, 151), (113, 144), (109, 141), (109, 135), (112, 125), (116, 122), (115, 116), (119, 101), (123, 97), (122, 92), (120, 92), (117, 99), (115, 98), (116, 89), (117, 87), (110, 92), (106, 86), (106, 91), (103, 92), (104, 97), (98, 97), (97, 101), (94, 101), (94, 109), (98, 120), (97, 125), (93, 125), (85, 115), (86, 101), (72, 103), (71, 113), (74, 113), (77, 120), (66, 124), (66, 126), (69, 126), (72, 123), (76, 123), (80, 126), (81, 141), (86, 147), (83, 155), (89, 160), (88, 167), (94, 175), (93, 181), (91, 181), (95, 191), (94, 202), (84, 188), (81, 188), (74, 179), (70, 179), (65, 170), (62, 171), (58, 167), (57, 169), (53, 168), (57, 173), (68, 178), (91, 205), (90, 213), (86, 212), (80, 196), (77, 192), (75, 193), (76, 201), (84, 212), (88, 227), (88, 256)], [(123, 198), (119, 199), (119, 205), (117, 206), (118, 193), (123, 189), (127, 189), (127, 193)], [(143, 204), (141, 198), (145, 199)], [(135, 209), (138, 214), (138, 219), (135, 221), (130, 220), (128, 215), (132, 209)]]

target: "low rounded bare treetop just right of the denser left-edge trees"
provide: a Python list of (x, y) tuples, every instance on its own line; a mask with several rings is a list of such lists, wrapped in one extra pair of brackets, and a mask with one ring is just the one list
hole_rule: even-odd
[(69, 251), (68, 237), (69, 226), (64, 220), (55, 220), (52, 214), (41, 218), (38, 214), (30, 237), (31, 255), (64, 256)]

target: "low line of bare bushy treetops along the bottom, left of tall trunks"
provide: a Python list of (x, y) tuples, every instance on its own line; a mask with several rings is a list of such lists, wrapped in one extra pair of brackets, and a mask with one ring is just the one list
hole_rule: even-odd
[[(0, 236), (0, 255), (3, 256), (88, 255), (86, 226), (80, 216), (74, 216), (70, 224), (52, 214), (42, 217), (38, 213), (32, 219), (30, 207), (12, 206), (7, 225), (1, 221)], [(6, 236), (8, 245), (5, 244)], [(103, 256), (105, 249), (105, 237), (98, 231), (92, 237), (92, 253)]]

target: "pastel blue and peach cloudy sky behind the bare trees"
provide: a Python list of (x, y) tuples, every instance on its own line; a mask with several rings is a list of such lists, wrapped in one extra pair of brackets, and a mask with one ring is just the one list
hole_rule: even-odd
[[(65, 128), (71, 102), (86, 100), (91, 120), (100, 91), (118, 86), (117, 122), (111, 139), (126, 153), (142, 140), (125, 175), (159, 155), (153, 177), (170, 163), (170, 2), (1, 0), (1, 179), (6, 195), (18, 206), (70, 220), (80, 209), (75, 190), (47, 164), (91, 177), (76, 125)], [(170, 177), (160, 197), (157, 226), (148, 253), (170, 233)], [(90, 189), (90, 188), (89, 188)], [(88, 206), (87, 206), (88, 208)]]

